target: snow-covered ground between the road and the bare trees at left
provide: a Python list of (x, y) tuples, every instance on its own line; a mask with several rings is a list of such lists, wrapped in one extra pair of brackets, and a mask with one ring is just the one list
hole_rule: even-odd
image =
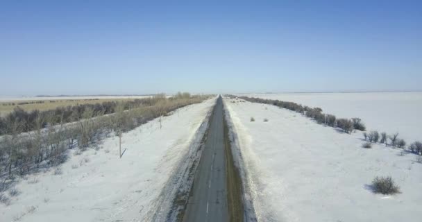
[(165, 187), (180, 182), (171, 176), (198, 146), (214, 103), (176, 110), (163, 117), (162, 129), (155, 119), (125, 133), (121, 159), (113, 136), (98, 149), (70, 151), (58, 170), (19, 179), (20, 194), (0, 204), (0, 221), (152, 221), (155, 207), (169, 205)]

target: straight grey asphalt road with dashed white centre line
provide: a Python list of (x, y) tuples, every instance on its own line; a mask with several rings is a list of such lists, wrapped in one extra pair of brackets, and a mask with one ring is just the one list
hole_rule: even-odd
[(217, 99), (183, 221), (228, 221), (223, 102)]

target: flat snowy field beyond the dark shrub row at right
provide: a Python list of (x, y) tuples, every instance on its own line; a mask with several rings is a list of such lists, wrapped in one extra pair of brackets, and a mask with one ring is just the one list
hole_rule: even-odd
[(359, 117), (369, 130), (400, 133), (408, 143), (422, 140), (422, 92), (239, 94), (292, 101), (341, 118)]

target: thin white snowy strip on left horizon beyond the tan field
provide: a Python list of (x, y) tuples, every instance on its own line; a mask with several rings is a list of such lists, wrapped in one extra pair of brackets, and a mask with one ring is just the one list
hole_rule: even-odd
[(151, 96), (0, 96), (0, 102), (60, 99), (142, 99)]

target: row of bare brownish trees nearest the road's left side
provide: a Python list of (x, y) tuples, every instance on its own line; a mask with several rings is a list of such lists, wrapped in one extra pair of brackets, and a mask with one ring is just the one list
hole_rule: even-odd
[[(164, 94), (143, 99), (128, 109), (128, 103), (116, 103), (113, 114), (85, 107), (75, 121), (55, 125), (38, 115), (32, 131), (22, 133), (22, 121), (8, 122), (8, 133), (0, 137), (0, 176), (30, 173), (40, 167), (52, 167), (66, 160), (66, 150), (96, 146), (103, 137), (132, 130), (146, 121), (162, 117), (185, 105), (199, 103), (207, 96)], [(142, 104), (142, 105), (140, 105)], [(48, 119), (48, 118), (47, 118)]]

